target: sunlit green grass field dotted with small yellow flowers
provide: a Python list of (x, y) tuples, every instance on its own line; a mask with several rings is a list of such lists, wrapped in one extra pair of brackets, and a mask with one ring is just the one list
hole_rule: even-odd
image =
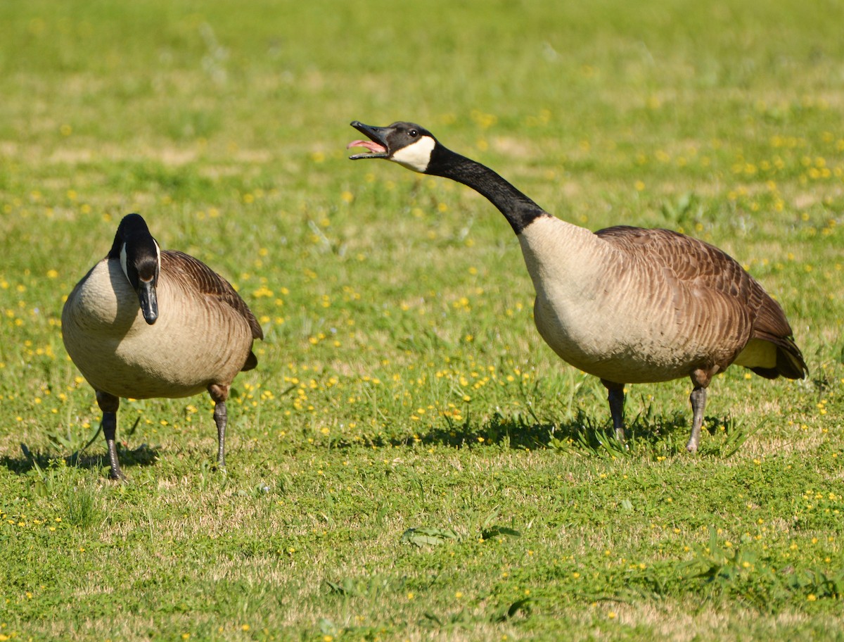
[[(570, 6), (566, 6), (570, 5)], [(0, 641), (844, 639), (844, 8), (834, 0), (0, 3)], [(684, 231), (786, 310), (804, 381), (603, 387), (414, 120), (591, 229)], [(130, 211), (261, 320), (208, 396), (62, 346)]]

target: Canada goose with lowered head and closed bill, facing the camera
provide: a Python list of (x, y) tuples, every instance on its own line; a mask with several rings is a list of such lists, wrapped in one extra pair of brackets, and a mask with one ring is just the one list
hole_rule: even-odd
[(65, 302), (62, 339), (103, 412), (112, 479), (126, 478), (115, 446), (120, 397), (187, 397), (207, 389), (217, 463), (225, 468), (225, 400), (236, 374), (257, 366), (252, 341), (263, 339), (227, 280), (192, 256), (162, 252), (143, 218), (127, 215), (106, 258)]

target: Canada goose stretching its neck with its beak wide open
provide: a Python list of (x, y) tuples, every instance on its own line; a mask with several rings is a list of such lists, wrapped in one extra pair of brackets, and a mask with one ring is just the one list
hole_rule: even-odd
[(625, 384), (690, 377), (691, 437), (701, 438), (706, 387), (731, 363), (765, 378), (803, 378), (806, 363), (782, 307), (733, 258), (674, 231), (592, 232), (549, 215), (495, 171), (447, 150), (412, 122), (352, 127), (369, 140), (352, 160), (384, 158), (473, 188), (500, 209), (536, 290), (539, 334), (565, 362), (601, 379), (624, 439)]

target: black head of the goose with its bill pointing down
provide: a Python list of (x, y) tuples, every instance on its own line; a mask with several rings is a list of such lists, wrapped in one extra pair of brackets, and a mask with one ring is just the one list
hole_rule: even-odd
[(161, 266), (161, 251), (149, 227), (139, 214), (123, 217), (117, 226), (114, 244), (108, 258), (120, 260), (123, 274), (138, 293), (143, 320), (152, 325), (158, 318), (155, 288)]

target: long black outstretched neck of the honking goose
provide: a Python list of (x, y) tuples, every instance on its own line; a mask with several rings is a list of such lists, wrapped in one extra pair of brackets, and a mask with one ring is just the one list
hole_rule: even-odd
[(533, 220), (546, 215), (544, 209), (528, 199), (517, 188), (490, 170), (465, 156), (437, 144), (431, 155), (426, 174), (451, 178), (462, 182), (497, 207), (517, 234), (521, 234)]

